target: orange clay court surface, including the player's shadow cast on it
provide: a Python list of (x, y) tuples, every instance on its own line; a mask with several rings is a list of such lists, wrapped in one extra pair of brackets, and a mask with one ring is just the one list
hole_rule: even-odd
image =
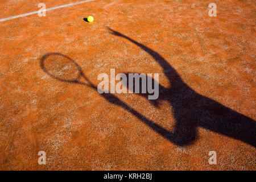
[[(0, 19), (77, 1), (1, 1)], [(0, 22), (0, 169), (255, 170), (255, 5), (96, 0)], [(159, 73), (159, 99), (49, 75), (77, 74), (70, 60), (96, 86)]]

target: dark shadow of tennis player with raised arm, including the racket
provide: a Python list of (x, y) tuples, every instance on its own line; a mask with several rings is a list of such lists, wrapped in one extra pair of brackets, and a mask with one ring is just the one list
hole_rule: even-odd
[[(163, 68), (171, 87), (165, 88), (159, 85), (159, 98), (156, 101), (151, 101), (151, 103), (155, 106), (158, 106), (158, 103), (162, 100), (170, 103), (174, 108), (175, 129), (174, 131), (164, 129), (164, 127), (144, 117), (144, 115), (138, 113), (138, 111), (119, 100), (113, 94), (101, 94), (105, 100), (130, 112), (152, 130), (177, 146), (186, 146), (193, 143), (197, 138), (197, 127), (204, 127), (205, 129), (241, 140), (255, 147), (256, 126), (253, 119), (196, 93), (181, 80), (175, 69), (157, 52), (117, 31), (110, 28), (109, 31), (114, 35), (130, 40), (142, 48)], [(44, 72), (56, 80), (90, 86), (98, 92), (97, 86), (90, 82), (79, 65), (68, 56), (56, 52), (47, 53), (41, 57), (40, 66)], [(62, 73), (60, 74), (60, 72)]]

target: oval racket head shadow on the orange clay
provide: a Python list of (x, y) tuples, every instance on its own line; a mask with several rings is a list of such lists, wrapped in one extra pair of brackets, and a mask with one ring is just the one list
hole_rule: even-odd
[(86, 84), (85, 82), (80, 81), (81, 77), (85, 78), (87, 81), (87, 78), (82, 73), (81, 67), (70, 57), (61, 53), (52, 52), (42, 56), (40, 59), (40, 66), (47, 75), (56, 80)]

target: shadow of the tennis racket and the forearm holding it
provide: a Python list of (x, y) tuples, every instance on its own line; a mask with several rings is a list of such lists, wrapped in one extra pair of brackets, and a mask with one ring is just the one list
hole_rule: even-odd
[[(97, 86), (90, 82), (90, 80), (84, 75), (81, 67), (74, 60), (61, 53), (53, 52), (47, 53), (46, 55), (42, 56), (40, 59), (40, 66), (43, 71), (47, 73), (47, 75), (55, 78), (56, 80), (68, 82), (71, 84), (81, 84), (89, 86), (90, 88), (96, 90), (96, 92), (100, 91), (97, 90)], [(134, 110), (125, 102), (119, 100), (118, 97), (114, 96), (111, 93), (102, 93), (100, 95), (110, 103), (120, 106), (126, 111), (133, 114), (152, 130), (162, 135), (162, 137), (170, 140), (170, 142), (176, 142), (174, 134), (164, 129), (157, 123), (151, 121), (150, 119), (144, 117), (142, 114), (138, 113), (138, 111)]]

